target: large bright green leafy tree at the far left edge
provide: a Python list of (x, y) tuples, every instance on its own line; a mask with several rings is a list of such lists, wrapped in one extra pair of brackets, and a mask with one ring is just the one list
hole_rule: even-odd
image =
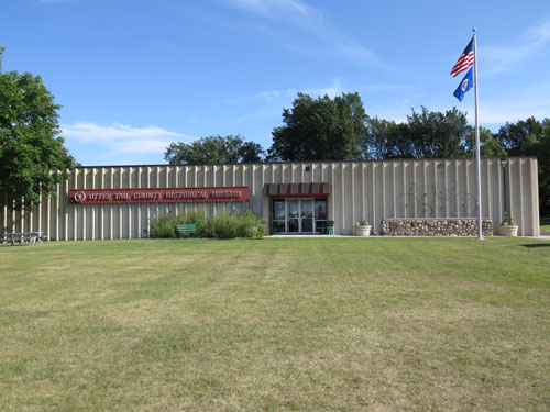
[(0, 70), (0, 207), (30, 209), (69, 178), (59, 109), (41, 76)]

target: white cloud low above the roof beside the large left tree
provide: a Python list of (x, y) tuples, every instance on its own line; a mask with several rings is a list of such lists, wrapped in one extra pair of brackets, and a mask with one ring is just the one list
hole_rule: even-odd
[(111, 153), (117, 154), (163, 153), (176, 140), (190, 142), (196, 138), (157, 126), (132, 127), (119, 123), (102, 126), (97, 123), (80, 122), (63, 124), (62, 130), (67, 141), (109, 147)]

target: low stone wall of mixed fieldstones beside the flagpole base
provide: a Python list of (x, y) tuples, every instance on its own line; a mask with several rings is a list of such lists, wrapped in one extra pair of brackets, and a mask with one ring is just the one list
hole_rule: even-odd
[[(483, 219), (483, 235), (493, 235), (493, 221)], [(383, 236), (477, 236), (477, 219), (385, 219), (382, 221)]]

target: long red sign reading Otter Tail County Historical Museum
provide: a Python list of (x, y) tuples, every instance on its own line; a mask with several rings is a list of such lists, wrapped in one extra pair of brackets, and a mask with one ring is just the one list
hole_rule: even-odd
[(245, 202), (249, 188), (75, 189), (69, 198), (76, 204)]

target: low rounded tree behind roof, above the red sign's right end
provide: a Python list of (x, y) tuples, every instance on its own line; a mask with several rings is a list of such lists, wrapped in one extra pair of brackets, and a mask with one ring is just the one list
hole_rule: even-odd
[(164, 158), (170, 165), (224, 164), (262, 162), (264, 151), (240, 135), (201, 137), (191, 143), (170, 143)]

